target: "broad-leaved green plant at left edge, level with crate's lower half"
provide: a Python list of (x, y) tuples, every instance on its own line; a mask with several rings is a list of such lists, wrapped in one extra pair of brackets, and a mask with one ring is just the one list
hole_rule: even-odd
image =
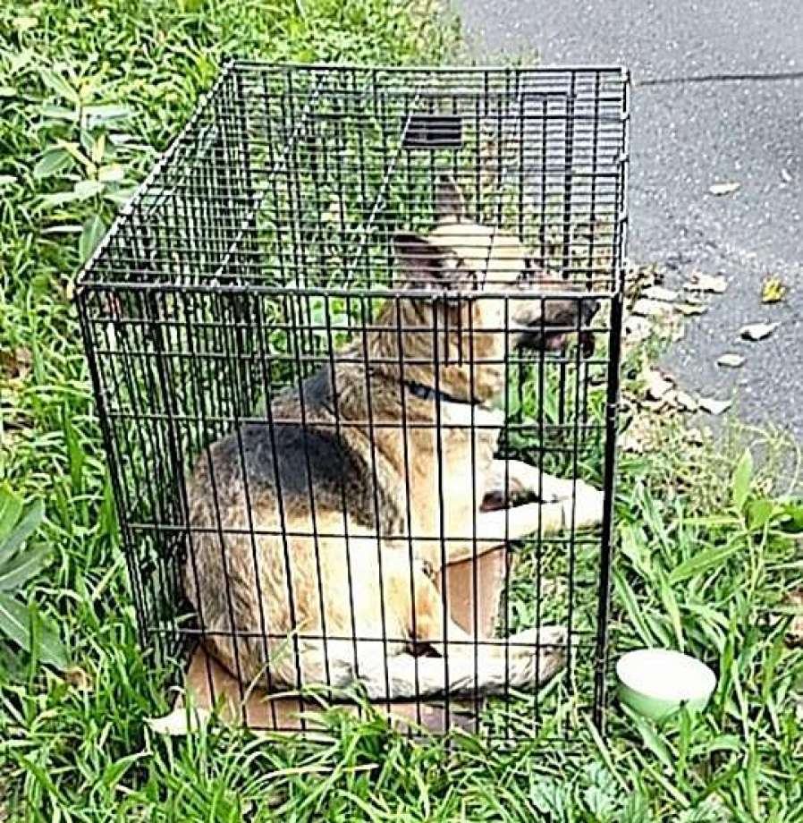
[(0, 634), (44, 663), (64, 668), (67, 654), (58, 633), (17, 594), (41, 571), (49, 554), (47, 547), (26, 546), (43, 514), (41, 500), (23, 510), (19, 497), (0, 488)]

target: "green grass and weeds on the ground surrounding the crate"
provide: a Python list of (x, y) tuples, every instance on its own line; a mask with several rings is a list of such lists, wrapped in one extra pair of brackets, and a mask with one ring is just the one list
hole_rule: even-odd
[(621, 457), (614, 635), (618, 649), (659, 642), (714, 664), (704, 716), (656, 726), (617, 708), (605, 743), (586, 725), (571, 745), (460, 738), (451, 752), (378, 719), (334, 716), (317, 744), (216, 725), (163, 739), (145, 723), (167, 697), (134, 635), (69, 301), (80, 257), (221, 55), (436, 61), (448, 38), (431, 20), (382, 0), (0, 9), (0, 476), (44, 500), (30, 547), (50, 560), (19, 595), (57, 625), (74, 667), (0, 646), (0, 819), (803, 819), (803, 661), (785, 639), (803, 562), (791, 510), (765, 502), (790, 445), (765, 441), (748, 482), (741, 444), (692, 445), (672, 421), (646, 455)]

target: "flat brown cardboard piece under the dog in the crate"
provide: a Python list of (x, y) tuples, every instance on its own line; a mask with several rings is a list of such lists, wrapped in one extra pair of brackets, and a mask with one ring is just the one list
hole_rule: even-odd
[[(446, 567), (446, 597), (452, 619), (468, 632), (474, 631), (475, 618), (480, 637), (491, 637), (499, 610), (505, 580), (511, 574), (512, 555), (504, 548)], [(507, 566), (507, 568), (506, 568)], [(476, 569), (476, 573), (475, 573)], [(475, 579), (476, 574), (476, 579)], [(478, 597), (475, 602), (474, 592)], [(185, 677), (185, 692), (190, 705), (201, 711), (210, 711), (215, 705), (224, 719), (242, 723), (249, 728), (267, 732), (314, 735), (323, 730), (315, 716), (323, 706), (297, 696), (269, 694), (253, 689), (243, 696), (243, 688), (214, 658), (200, 647), (190, 659)], [(181, 709), (183, 697), (176, 700), (173, 710)], [(359, 713), (355, 704), (339, 704), (344, 710)], [(376, 703), (394, 725), (407, 728), (425, 728), (443, 733), (450, 729), (473, 729), (482, 701), (418, 700)]]

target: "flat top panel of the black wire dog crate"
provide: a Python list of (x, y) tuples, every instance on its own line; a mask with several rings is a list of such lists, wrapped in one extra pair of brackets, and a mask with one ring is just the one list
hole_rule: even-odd
[(81, 282), (396, 290), (421, 285), (400, 235), (435, 231), (468, 261), (450, 288), (505, 288), (502, 243), (534, 288), (613, 290), (627, 89), (617, 67), (228, 64)]

